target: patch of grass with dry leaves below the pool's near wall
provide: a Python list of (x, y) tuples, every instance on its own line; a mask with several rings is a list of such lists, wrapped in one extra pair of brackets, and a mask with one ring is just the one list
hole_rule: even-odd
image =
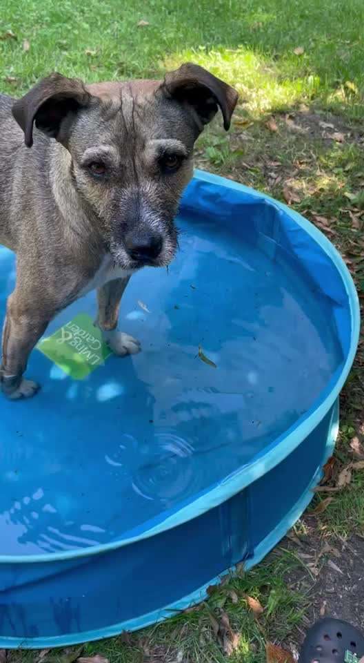
[[(239, 646), (230, 657), (231, 663), (263, 663), (265, 642), (277, 638), (284, 640), (301, 622), (307, 597), (296, 593), (287, 584), (288, 575), (295, 573), (297, 568), (302, 569), (302, 564), (294, 555), (277, 553), (248, 575), (238, 573), (230, 577), (212, 593), (208, 604), (202, 604), (190, 613), (176, 615), (146, 633), (86, 644), (82, 655), (92, 657), (102, 652), (111, 663), (136, 663), (144, 658), (161, 663), (175, 660), (224, 663), (226, 657), (216, 640), (213, 626), (228, 614), (234, 633), (241, 633)], [(248, 608), (246, 596), (259, 600), (265, 608), (259, 622)], [(75, 647), (71, 651), (77, 650)], [(64, 657), (63, 651), (56, 651), (46, 660), (64, 663)], [(20, 661), (33, 662), (34, 654), (22, 652), (21, 659), (17, 652), (10, 655), (9, 663)]]

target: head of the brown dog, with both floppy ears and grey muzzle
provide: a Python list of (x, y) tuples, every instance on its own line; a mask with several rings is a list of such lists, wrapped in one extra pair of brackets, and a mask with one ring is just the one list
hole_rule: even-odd
[(85, 86), (53, 74), (14, 103), (28, 147), (33, 125), (70, 153), (77, 192), (124, 269), (168, 265), (174, 216), (192, 176), (192, 151), (220, 108), (226, 130), (238, 95), (205, 69), (184, 64), (163, 81)]

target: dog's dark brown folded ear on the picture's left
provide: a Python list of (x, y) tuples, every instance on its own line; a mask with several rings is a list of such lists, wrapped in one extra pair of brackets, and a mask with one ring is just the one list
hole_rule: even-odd
[(33, 144), (33, 124), (57, 140), (63, 119), (75, 115), (79, 108), (87, 106), (90, 94), (77, 79), (54, 73), (37, 85), (12, 106), (12, 115), (23, 129), (26, 146)]

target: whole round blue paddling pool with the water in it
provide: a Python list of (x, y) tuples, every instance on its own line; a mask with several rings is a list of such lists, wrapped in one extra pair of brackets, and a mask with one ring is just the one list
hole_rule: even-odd
[[(292, 209), (206, 173), (178, 224), (169, 271), (141, 271), (123, 298), (141, 354), (76, 380), (36, 349), (42, 391), (0, 401), (0, 648), (200, 600), (281, 539), (332, 451), (359, 326), (343, 260)], [(0, 249), (1, 318), (14, 269)], [(46, 336), (94, 310), (90, 294)]]

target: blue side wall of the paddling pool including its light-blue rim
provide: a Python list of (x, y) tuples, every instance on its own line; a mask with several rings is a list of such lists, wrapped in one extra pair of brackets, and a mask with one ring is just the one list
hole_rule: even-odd
[(310, 503), (338, 431), (338, 394), (358, 343), (358, 300), (336, 249), (283, 204), (196, 172), (182, 209), (232, 223), (243, 218), (244, 204), (266, 205), (253, 229), (261, 249), (297, 256), (332, 302), (342, 365), (312, 408), (253, 463), (148, 531), (86, 550), (0, 555), (0, 648), (65, 646), (174, 615), (239, 562), (248, 569), (261, 561)]

